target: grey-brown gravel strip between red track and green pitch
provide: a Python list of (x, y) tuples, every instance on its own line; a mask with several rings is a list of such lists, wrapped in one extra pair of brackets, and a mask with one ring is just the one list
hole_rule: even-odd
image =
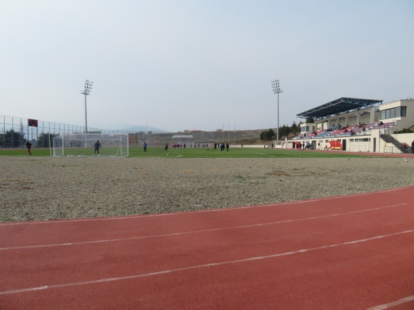
[(0, 222), (264, 205), (414, 185), (403, 158), (0, 157)]

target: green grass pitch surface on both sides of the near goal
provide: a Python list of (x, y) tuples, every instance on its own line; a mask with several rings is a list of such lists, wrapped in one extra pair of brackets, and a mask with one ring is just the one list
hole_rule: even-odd
[[(50, 149), (32, 149), (32, 156), (50, 156)], [(360, 157), (364, 155), (346, 154), (343, 152), (326, 151), (297, 151), (290, 149), (262, 149), (262, 148), (248, 148), (237, 147), (231, 148), (227, 152), (221, 152), (219, 149), (213, 148), (169, 148), (168, 152), (162, 147), (148, 147), (147, 152), (144, 153), (142, 147), (130, 147), (130, 157), (167, 157), (168, 158), (349, 158)], [(0, 149), (0, 156), (30, 156), (26, 149)]]

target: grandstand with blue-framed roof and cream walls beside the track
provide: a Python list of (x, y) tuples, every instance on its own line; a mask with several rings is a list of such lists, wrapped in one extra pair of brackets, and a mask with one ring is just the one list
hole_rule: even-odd
[(297, 117), (313, 118), (315, 123), (302, 123), (300, 134), (282, 147), (294, 147), (300, 140), (311, 143), (313, 149), (403, 152), (402, 144), (411, 145), (414, 140), (414, 134), (396, 134), (414, 125), (414, 99), (382, 103), (342, 97)]

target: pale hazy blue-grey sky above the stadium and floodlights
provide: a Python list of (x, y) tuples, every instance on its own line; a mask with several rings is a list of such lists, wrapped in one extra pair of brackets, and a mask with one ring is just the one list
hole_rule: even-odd
[(1, 115), (249, 130), (414, 97), (413, 0), (0, 0)]

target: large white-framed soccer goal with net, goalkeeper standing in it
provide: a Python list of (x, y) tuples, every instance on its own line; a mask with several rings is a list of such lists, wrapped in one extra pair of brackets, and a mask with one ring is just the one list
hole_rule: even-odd
[(128, 155), (128, 134), (61, 134), (53, 138), (54, 157)]

